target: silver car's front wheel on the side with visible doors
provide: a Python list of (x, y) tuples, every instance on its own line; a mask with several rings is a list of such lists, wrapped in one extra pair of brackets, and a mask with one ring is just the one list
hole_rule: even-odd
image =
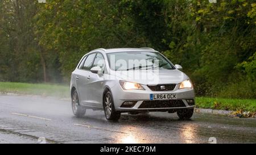
[(118, 111), (115, 111), (115, 106), (114, 106), (112, 94), (110, 93), (110, 91), (108, 91), (104, 95), (103, 107), (104, 107), (105, 117), (107, 120), (117, 121), (120, 118), (121, 113)]

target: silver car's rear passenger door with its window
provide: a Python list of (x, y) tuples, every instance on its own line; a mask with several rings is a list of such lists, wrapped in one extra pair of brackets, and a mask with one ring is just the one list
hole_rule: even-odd
[(76, 86), (78, 89), (80, 102), (82, 105), (86, 106), (88, 105), (88, 79), (90, 78), (90, 68), (92, 68), (94, 57), (96, 56), (96, 53), (89, 54), (84, 64), (82, 65), (82, 68), (79, 69), (79, 72), (76, 75)]

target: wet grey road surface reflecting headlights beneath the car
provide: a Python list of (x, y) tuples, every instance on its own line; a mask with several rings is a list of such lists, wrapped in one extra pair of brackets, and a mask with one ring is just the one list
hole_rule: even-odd
[(0, 95), (0, 143), (256, 143), (256, 119), (194, 114), (179, 120), (176, 114), (150, 112), (122, 114), (108, 122), (103, 111), (72, 114), (71, 103), (51, 97)]

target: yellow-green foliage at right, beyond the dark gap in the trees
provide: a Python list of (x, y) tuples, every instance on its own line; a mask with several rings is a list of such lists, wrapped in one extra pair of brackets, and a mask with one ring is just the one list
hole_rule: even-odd
[(174, 36), (180, 40), (167, 41), (164, 54), (183, 65), (197, 95), (255, 98), (255, 3), (192, 1), (184, 8), (190, 11), (179, 12), (188, 14), (171, 10), (185, 24), (179, 23), (176, 31), (183, 33)]

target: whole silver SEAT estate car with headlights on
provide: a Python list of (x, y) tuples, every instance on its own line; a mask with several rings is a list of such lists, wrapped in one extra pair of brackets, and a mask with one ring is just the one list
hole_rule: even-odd
[(108, 120), (123, 112), (177, 112), (189, 119), (195, 93), (189, 77), (152, 48), (95, 49), (84, 55), (71, 75), (72, 110), (104, 110)]

